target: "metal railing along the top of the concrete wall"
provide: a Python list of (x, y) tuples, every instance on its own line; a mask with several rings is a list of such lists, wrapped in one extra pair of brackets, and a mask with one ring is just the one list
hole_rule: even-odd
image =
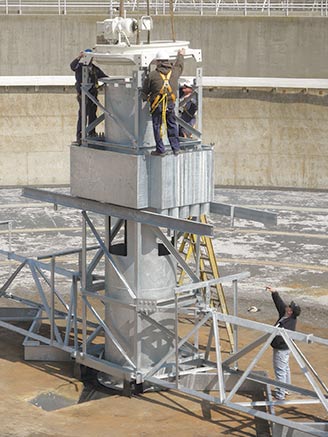
[[(127, 13), (146, 14), (146, 0), (126, 0)], [(0, 0), (0, 14), (117, 15), (119, 1)], [(175, 14), (327, 16), (328, 0), (175, 0)], [(150, 0), (151, 15), (169, 15), (169, 0)]]

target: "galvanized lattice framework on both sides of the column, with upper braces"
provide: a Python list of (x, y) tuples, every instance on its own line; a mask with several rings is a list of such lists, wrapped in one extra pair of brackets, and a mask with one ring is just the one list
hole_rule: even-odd
[[(85, 199), (71, 199), (70, 196), (58, 195), (57, 193), (52, 192), (44, 192), (42, 190), (35, 189), (25, 189), (24, 195), (27, 197), (33, 197), (38, 200), (50, 201), (55, 204), (64, 204), (66, 206), (81, 207), (80, 203), (76, 203), (78, 201), (82, 201), (84, 206), (87, 206), (86, 210), (95, 211), (99, 213), (99, 209), (96, 208), (96, 204), (98, 202), (93, 201), (85, 201)], [(86, 203), (85, 203), (86, 202)], [(103, 215), (108, 215), (109, 212), (114, 213), (119, 211), (120, 219), (126, 219), (126, 215), (122, 213), (122, 210), (127, 210), (128, 208), (119, 208), (115, 209), (115, 206), (112, 205), (102, 205), (100, 211)], [(217, 312), (213, 308), (210, 307), (210, 286), (215, 283), (226, 283), (231, 282), (233, 284), (234, 296), (235, 300), (237, 300), (238, 295), (238, 281), (249, 276), (249, 273), (244, 272), (237, 275), (231, 275), (227, 277), (222, 277), (219, 279), (212, 279), (208, 281), (199, 281), (197, 275), (195, 275), (192, 271), (187, 272), (191, 278), (191, 283), (186, 284), (175, 289), (174, 298), (171, 300), (165, 301), (154, 301), (154, 300), (138, 300), (134, 297), (133, 290), (131, 295), (131, 302), (122, 304), (127, 305), (128, 307), (134, 308), (137, 312), (137, 316), (141, 318), (146, 318), (150, 323), (152, 323), (157, 329), (165, 329), (162, 327), (160, 323), (155, 321), (152, 318), (152, 314), (156, 311), (170, 311), (175, 314), (175, 328), (171, 331), (171, 337), (174, 338), (175, 347), (172, 351), (170, 351), (165, 357), (163, 357), (158, 363), (156, 363), (151, 370), (147, 373), (142, 373), (137, 369), (136, 364), (133, 360), (128, 356), (124, 348), (120, 345), (118, 339), (115, 338), (113, 333), (108, 328), (105, 320), (102, 316), (97, 312), (95, 307), (90, 302), (92, 299), (97, 299), (105, 302), (110, 302), (111, 298), (104, 296), (93, 288), (93, 278), (92, 274), (96, 264), (105, 256), (112, 265), (115, 266), (113, 259), (111, 259), (111, 255), (106, 248), (106, 244), (103, 241), (100, 234), (97, 232), (96, 227), (94, 226), (92, 220), (88, 216), (85, 209), (82, 209), (82, 218), (83, 218), (83, 226), (82, 226), (82, 248), (77, 250), (76, 252), (80, 253), (79, 257), (79, 270), (78, 271), (69, 271), (62, 267), (56, 265), (56, 256), (64, 255), (65, 252), (50, 254), (50, 263), (45, 263), (41, 260), (30, 259), (26, 257), (19, 256), (17, 254), (0, 251), (0, 254), (7, 256), (9, 259), (14, 259), (20, 263), (20, 265), (16, 268), (14, 273), (8, 278), (5, 284), (1, 287), (1, 297), (8, 298), (19, 302), (20, 304), (26, 305), (31, 308), (35, 308), (37, 310), (37, 316), (35, 317), (33, 323), (29, 330), (22, 329), (16, 325), (8, 323), (8, 320), (0, 319), (0, 326), (13, 330), (19, 334), (23, 334), (26, 336), (26, 339), (32, 338), (34, 340), (39, 341), (43, 344), (51, 345), (55, 348), (58, 348), (62, 351), (69, 353), (77, 363), (81, 363), (85, 366), (94, 368), (96, 370), (100, 370), (102, 372), (108, 373), (114, 377), (118, 377), (124, 379), (126, 381), (135, 381), (136, 383), (149, 383), (152, 385), (157, 385), (160, 387), (165, 387), (173, 390), (178, 390), (182, 393), (186, 393), (197, 398), (207, 400), (209, 402), (213, 402), (216, 405), (226, 406), (235, 411), (243, 412), (254, 417), (258, 417), (264, 420), (268, 420), (270, 422), (274, 422), (277, 424), (281, 424), (284, 426), (288, 426), (293, 429), (298, 429), (302, 431), (306, 431), (312, 435), (326, 435), (325, 432), (319, 431), (318, 429), (314, 429), (311, 426), (305, 426), (304, 424), (299, 424), (296, 422), (292, 422), (290, 420), (286, 420), (280, 416), (275, 416), (273, 414), (272, 408), (275, 405), (297, 405), (304, 403), (319, 403), (323, 406), (323, 408), (328, 411), (328, 401), (327, 401), (327, 387), (320, 379), (319, 375), (314, 371), (312, 365), (308, 362), (308, 360), (304, 357), (304, 354), (301, 352), (299, 346), (295, 345), (295, 341), (304, 342), (304, 343), (316, 343), (324, 346), (328, 346), (328, 340), (320, 337), (316, 337), (313, 335), (307, 335), (300, 332), (293, 331), (284, 331), (281, 328), (266, 325), (263, 323), (258, 323), (250, 320), (241, 319), (237, 316), (237, 303), (234, 305), (234, 315), (227, 315), (220, 312)], [(128, 214), (128, 217), (129, 214)], [(147, 217), (147, 215), (146, 215)], [(143, 222), (145, 224), (149, 224), (148, 219), (145, 219), (144, 215), (136, 214), (134, 218), (138, 219), (137, 221)], [(263, 218), (263, 217), (261, 217)], [(159, 223), (167, 226), (168, 224), (172, 224), (175, 228), (181, 228), (180, 230), (185, 231), (184, 228), (188, 221), (179, 221), (177, 219), (173, 219), (172, 221), (167, 221), (167, 218), (161, 216), (161, 220)], [(168, 248), (171, 254), (176, 258), (177, 262), (181, 262), (180, 255), (174, 250), (174, 246), (170, 243), (170, 241), (166, 238), (165, 234), (159, 229), (157, 226), (153, 225), (152, 220), (151, 229), (154, 234), (164, 243), (164, 245)], [(119, 221), (113, 227), (113, 234), (115, 235), (120, 227), (121, 222)], [(189, 232), (195, 233), (195, 227), (197, 223), (189, 222), (189, 226), (191, 226), (191, 230)], [(91, 262), (87, 263), (87, 252), (91, 249), (87, 247), (87, 227), (91, 230), (92, 234), (97, 239), (98, 245), (93, 246), (92, 249), (96, 250), (96, 254), (91, 260)], [(170, 226), (168, 226), (170, 227)], [(197, 228), (198, 232), (202, 232)], [(189, 229), (189, 228), (188, 228)], [(67, 251), (67, 253), (72, 253), (72, 251)], [(55, 256), (56, 255), (56, 256)], [(17, 278), (18, 274), (22, 271), (23, 267), (29, 267), (34, 282), (36, 284), (37, 290), (39, 292), (39, 296), (41, 298), (42, 303), (35, 303), (28, 299), (21, 298), (19, 296), (14, 296), (8, 292), (9, 286), (12, 282)], [(44, 272), (48, 271), (51, 274), (50, 280), (46, 278)], [(55, 274), (56, 275), (64, 275), (68, 279), (72, 281), (71, 284), (71, 293), (69, 297), (69, 302), (66, 304), (65, 300), (61, 298), (60, 293), (56, 290), (55, 287)], [(120, 274), (118, 270), (118, 274)], [(42, 287), (42, 284), (39, 279), (39, 275), (45, 280), (46, 284), (50, 289), (50, 298), (49, 300), (46, 297), (46, 292)], [(121, 274), (120, 274), (121, 275)], [(125, 278), (120, 276), (122, 281), (125, 283)], [(77, 316), (77, 303), (78, 299), (78, 282), (81, 281), (81, 301), (82, 301), (82, 317), (79, 318)], [(205, 291), (204, 291), (205, 290)], [(58, 301), (61, 305), (64, 306), (65, 311), (59, 311), (54, 308), (55, 306), (55, 297), (57, 297)], [(88, 320), (88, 311), (91, 311), (93, 316), (96, 317), (97, 323), (90, 322)], [(50, 324), (50, 336), (45, 337), (39, 335), (36, 332), (38, 323), (41, 317), (42, 312), (46, 313), (46, 319), (49, 320)], [(194, 324), (191, 325), (191, 328), (184, 337), (179, 336), (179, 317), (181, 315), (187, 315), (189, 318), (194, 317)], [(22, 317), (22, 320), (25, 320)], [(65, 324), (65, 333), (61, 334), (59, 325), (57, 325), (57, 320), (66, 320)], [(211, 331), (208, 337), (208, 342), (206, 345), (206, 352), (201, 353), (198, 345), (198, 337), (201, 332), (202, 327), (211, 322)], [(236, 332), (236, 348), (233, 352), (233, 355), (227, 359), (224, 359), (221, 351), (221, 339), (220, 339), (220, 327), (219, 322), (230, 323), (234, 326), (234, 330)], [(78, 339), (78, 330), (79, 325), (82, 325), (82, 341)], [(238, 327), (244, 327), (247, 329), (257, 330), (261, 333), (260, 337), (257, 338), (252, 343), (248, 344), (241, 350), (238, 350)], [(89, 330), (89, 332), (87, 331)], [(70, 345), (70, 333), (73, 331), (73, 344)], [(115, 346), (118, 348), (122, 356), (126, 359), (128, 365), (119, 366), (115, 363), (108, 362), (107, 360), (101, 358), (101, 355), (92, 353), (92, 341), (97, 337), (100, 333), (104, 333), (106, 336), (109, 336), (114, 342)], [(295, 357), (298, 364), (304, 370), (305, 376), (308, 379), (313, 390), (307, 390), (302, 387), (297, 387), (294, 385), (279, 383), (278, 381), (272, 380), (266, 376), (259, 376), (254, 372), (254, 366), (259, 362), (263, 353), (270, 347), (270, 341), (275, 335), (282, 335), (288, 343), (291, 353)], [(190, 338), (195, 336), (194, 344), (190, 343)], [(210, 348), (212, 342), (214, 341), (215, 347), (215, 357), (211, 359), (210, 357)], [(260, 351), (256, 353), (255, 357), (251, 360), (250, 364), (247, 366), (245, 370), (238, 369), (238, 360), (241, 357), (247, 356), (250, 352), (255, 352), (256, 348), (260, 348)], [(182, 358), (180, 352), (189, 351), (189, 358)], [(172, 369), (170, 367), (169, 372), (165, 374), (165, 364), (168, 359), (174, 359), (175, 368)], [(225, 388), (225, 377), (226, 375), (237, 375), (238, 380), (234, 384), (234, 386), (226, 391)], [(198, 377), (198, 375), (204, 375), (204, 377), (209, 377), (212, 379), (212, 388), (214, 391), (217, 389), (218, 395), (205, 393), (193, 388), (193, 386), (183, 386), (183, 379), (187, 375), (194, 375)], [(268, 390), (268, 400), (260, 401), (260, 402), (234, 402), (233, 397), (241, 388), (244, 381), (254, 381), (256, 383), (263, 384), (266, 390)], [(172, 382), (173, 381), (173, 382)], [(307, 396), (310, 399), (303, 400), (289, 400), (289, 401), (273, 401), (270, 397), (270, 390), (267, 389), (269, 386), (275, 387), (284, 387), (296, 393), (300, 393), (303, 396)], [(267, 407), (271, 409), (271, 413), (263, 412), (256, 410), (256, 407)]]

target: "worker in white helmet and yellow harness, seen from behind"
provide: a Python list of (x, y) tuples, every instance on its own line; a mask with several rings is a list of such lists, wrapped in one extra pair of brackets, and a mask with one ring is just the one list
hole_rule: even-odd
[(169, 61), (165, 50), (156, 54), (156, 69), (145, 78), (141, 95), (150, 103), (156, 150), (155, 156), (165, 156), (163, 136), (165, 129), (174, 155), (180, 153), (179, 133), (175, 116), (175, 100), (178, 92), (179, 77), (183, 71), (185, 50), (178, 51), (174, 63)]

